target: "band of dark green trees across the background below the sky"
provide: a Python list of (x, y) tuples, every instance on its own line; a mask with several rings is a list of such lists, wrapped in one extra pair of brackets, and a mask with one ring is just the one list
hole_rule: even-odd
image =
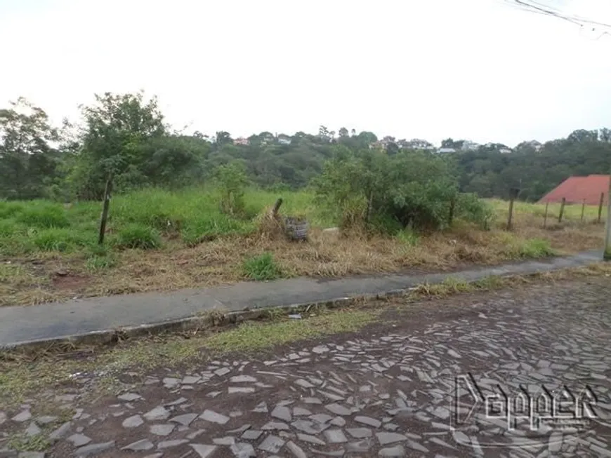
[[(341, 169), (334, 179), (358, 176), (371, 189), (374, 184), (383, 187), (381, 175), (372, 174), (392, 172), (393, 182), (426, 178), (421, 185), (431, 187), (431, 196), (436, 196), (452, 175), (458, 191), (506, 198), (517, 186), (520, 198), (536, 200), (570, 175), (606, 174), (611, 166), (608, 128), (577, 129), (565, 138), (544, 144), (525, 141), (513, 149), (501, 143), (473, 147), (466, 140), (447, 138), (441, 146), (456, 152), (442, 154), (438, 162), (422, 161), (415, 154), (435, 154), (426, 140), (380, 140), (349, 126), (336, 131), (320, 126), (315, 134), (261, 132), (248, 138), (234, 138), (227, 131), (211, 136), (176, 131), (165, 123), (157, 98), (143, 93), (96, 95), (81, 113), (80, 123), (65, 121), (58, 128), (43, 109), (23, 98), (0, 108), (0, 198), (100, 199), (110, 175), (119, 192), (177, 188), (211, 182), (219, 168), (239, 163), (249, 182), (260, 187), (306, 187), (315, 177), (332, 177)], [(348, 153), (360, 162), (337, 162)], [(363, 159), (366, 156), (369, 159)], [(390, 188), (376, 190), (375, 198), (386, 202), (379, 205), (393, 201), (402, 208), (400, 201), (409, 191)], [(390, 196), (393, 192), (401, 197)]]

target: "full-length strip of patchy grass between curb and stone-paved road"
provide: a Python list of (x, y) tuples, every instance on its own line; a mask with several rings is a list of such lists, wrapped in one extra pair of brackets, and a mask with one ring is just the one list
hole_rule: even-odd
[(115, 389), (117, 378), (126, 373), (140, 377), (158, 367), (172, 369), (201, 365), (202, 360), (215, 358), (221, 353), (263, 351), (302, 339), (355, 332), (369, 323), (380, 321), (388, 307), (405, 307), (424, 298), (590, 277), (611, 277), (611, 264), (600, 262), (588, 267), (530, 276), (489, 277), (473, 283), (449, 278), (438, 285), (419, 285), (403, 297), (357, 300), (351, 307), (341, 310), (313, 308), (303, 312), (300, 320), (287, 318), (284, 311), (264, 316), (267, 321), (258, 323), (126, 339), (111, 347), (58, 344), (35, 352), (4, 352), (0, 353), (0, 405), (22, 403), (32, 393), (53, 396), (62, 389), (74, 387), (74, 374), (77, 373), (91, 377), (97, 389)]

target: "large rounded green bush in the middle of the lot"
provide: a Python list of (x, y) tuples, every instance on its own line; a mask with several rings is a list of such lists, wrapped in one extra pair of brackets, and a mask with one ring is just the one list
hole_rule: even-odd
[(449, 163), (440, 156), (415, 151), (388, 156), (372, 150), (353, 154), (344, 147), (324, 164), (313, 187), (317, 203), (341, 226), (364, 225), (369, 214), (370, 229), (377, 222), (374, 229), (387, 231), (447, 227), (450, 202), (458, 194)]

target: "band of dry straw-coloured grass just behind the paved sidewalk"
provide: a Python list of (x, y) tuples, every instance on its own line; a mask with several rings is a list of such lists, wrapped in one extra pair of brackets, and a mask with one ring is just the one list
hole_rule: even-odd
[(230, 284), (245, 279), (245, 257), (265, 252), (272, 253), (286, 277), (329, 278), (409, 269), (449, 271), (603, 245), (603, 225), (579, 222), (580, 212), (577, 220), (575, 212), (567, 212), (563, 224), (548, 220), (544, 229), (540, 206), (525, 204), (522, 211), (516, 208), (513, 231), (505, 231), (507, 205), (494, 205), (498, 219), (491, 231), (456, 222), (451, 230), (421, 236), (416, 244), (399, 237), (334, 237), (317, 228), (310, 229), (308, 242), (294, 243), (284, 238), (282, 223), (266, 209), (258, 217), (258, 230), (249, 236), (225, 236), (191, 248), (167, 241), (160, 250), (117, 252), (114, 264), (104, 269), (88, 269), (84, 254), (40, 253), (0, 264), (0, 305)]

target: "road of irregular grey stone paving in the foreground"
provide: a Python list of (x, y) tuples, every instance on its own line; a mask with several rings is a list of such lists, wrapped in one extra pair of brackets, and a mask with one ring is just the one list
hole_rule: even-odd
[[(160, 369), (116, 398), (75, 391), (46, 454), (18, 456), (611, 457), (610, 293), (606, 278), (429, 302), (354, 335)], [(30, 410), (0, 425), (56, 421)]]

